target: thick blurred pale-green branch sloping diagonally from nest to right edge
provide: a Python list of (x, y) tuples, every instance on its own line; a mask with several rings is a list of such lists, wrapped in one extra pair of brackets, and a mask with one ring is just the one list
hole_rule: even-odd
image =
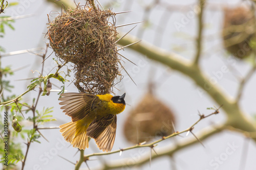
[[(119, 44), (124, 46), (138, 40), (138, 38), (132, 35), (126, 35), (119, 40)], [(248, 132), (256, 131), (256, 125), (252, 121), (252, 118), (240, 109), (235, 100), (232, 99), (229, 94), (224, 92), (219, 84), (212, 84), (209, 81), (210, 78), (198, 65), (193, 64), (193, 62), (176, 53), (165, 51), (163, 48), (159, 48), (146, 41), (141, 41), (140, 43), (129, 46), (129, 48), (191, 78), (203, 89), (197, 89), (199, 95), (206, 95), (207, 93), (217, 104), (223, 105), (222, 108), (227, 115), (228, 125)], [(256, 138), (254, 138), (254, 140), (256, 140)]]

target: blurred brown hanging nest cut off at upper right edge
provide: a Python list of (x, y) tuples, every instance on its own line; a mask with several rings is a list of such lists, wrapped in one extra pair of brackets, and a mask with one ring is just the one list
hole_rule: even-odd
[(250, 41), (255, 36), (255, 15), (249, 7), (224, 9), (222, 38), (226, 50), (243, 59), (251, 52)]

